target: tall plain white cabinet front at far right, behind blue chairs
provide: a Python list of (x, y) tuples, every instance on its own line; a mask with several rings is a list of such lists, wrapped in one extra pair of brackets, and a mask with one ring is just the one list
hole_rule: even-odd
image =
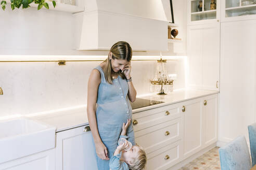
[[(255, 120), (256, 20), (221, 23), (219, 140), (245, 135)], [(220, 143), (221, 144), (221, 143)]]

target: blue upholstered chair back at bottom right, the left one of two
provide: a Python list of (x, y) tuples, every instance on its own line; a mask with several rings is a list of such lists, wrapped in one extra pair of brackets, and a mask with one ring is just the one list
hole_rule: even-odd
[(222, 170), (250, 170), (251, 158), (245, 136), (219, 149)]

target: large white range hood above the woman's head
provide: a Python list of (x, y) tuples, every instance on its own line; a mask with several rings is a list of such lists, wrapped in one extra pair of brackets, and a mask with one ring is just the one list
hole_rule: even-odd
[(75, 48), (127, 41), (133, 50), (167, 50), (170, 13), (169, 0), (85, 0), (85, 11), (74, 14)]

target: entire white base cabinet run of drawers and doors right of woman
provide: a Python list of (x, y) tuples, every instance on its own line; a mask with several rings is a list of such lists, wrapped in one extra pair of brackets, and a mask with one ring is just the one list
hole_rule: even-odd
[(168, 169), (217, 141), (218, 94), (133, 114), (147, 170)]

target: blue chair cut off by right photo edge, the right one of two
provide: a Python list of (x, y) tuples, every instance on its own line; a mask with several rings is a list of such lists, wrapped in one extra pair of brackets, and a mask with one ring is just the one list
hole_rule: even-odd
[(256, 123), (248, 126), (252, 166), (256, 164)]

